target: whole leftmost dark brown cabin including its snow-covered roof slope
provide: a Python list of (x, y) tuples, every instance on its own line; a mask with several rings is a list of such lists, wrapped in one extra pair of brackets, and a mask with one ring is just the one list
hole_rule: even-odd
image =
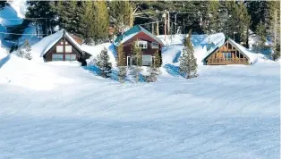
[[(35, 47), (35, 48), (34, 48)], [(55, 34), (43, 38), (32, 46), (32, 50), (37, 51), (45, 62), (51, 61), (79, 61), (85, 62), (91, 54), (85, 52), (79, 42), (65, 30), (59, 30)], [(34, 49), (33, 49), (34, 48)], [(43, 50), (42, 50), (43, 49)]]

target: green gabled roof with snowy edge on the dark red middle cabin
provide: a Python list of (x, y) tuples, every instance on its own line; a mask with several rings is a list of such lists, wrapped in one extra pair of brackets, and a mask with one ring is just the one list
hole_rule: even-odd
[(140, 25), (135, 25), (134, 27), (132, 27), (132, 29), (128, 29), (121, 36), (115, 38), (115, 42), (114, 42), (115, 46), (119, 46), (120, 44), (123, 44), (124, 42), (126, 42), (127, 40), (134, 37), (140, 32), (147, 34), (149, 37), (154, 38), (156, 41), (158, 41), (159, 44), (165, 46), (160, 38), (151, 34), (147, 29), (142, 28)]

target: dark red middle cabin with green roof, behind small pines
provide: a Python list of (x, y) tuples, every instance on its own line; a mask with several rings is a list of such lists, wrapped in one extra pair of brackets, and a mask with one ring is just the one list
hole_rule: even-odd
[(126, 55), (126, 65), (136, 65), (136, 60), (132, 55), (132, 44), (136, 42), (137, 47), (141, 48), (142, 52), (142, 65), (149, 66), (154, 63), (154, 54), (158, 52), (161, 57), (161, 48), (164, 43), (151, 34), (147, 29), (143, 29), (141, 26), (136, 25), (125, 31), (122, 35), (115, 38), (115, 46), (123, 44), (123, 50)]

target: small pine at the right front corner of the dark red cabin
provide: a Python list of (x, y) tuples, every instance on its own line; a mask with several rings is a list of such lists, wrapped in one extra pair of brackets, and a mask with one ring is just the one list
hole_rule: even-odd
[(161, 66), (161, 57), (156, 51), (154, 54), (154, 63), (151, 63), (149, 66), (149, 77), (147, 78), (147, 82), (156, 82), (158, 81), (158, 75), (161, 73), (159, 67)]

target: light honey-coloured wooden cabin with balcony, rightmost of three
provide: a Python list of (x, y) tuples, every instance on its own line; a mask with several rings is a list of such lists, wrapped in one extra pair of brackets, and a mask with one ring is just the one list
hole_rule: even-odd
[(224, 45), (209, 54), (204, 61), (207, 65), (251, 64), (244, 47), (231, 39), (227, 39)]

